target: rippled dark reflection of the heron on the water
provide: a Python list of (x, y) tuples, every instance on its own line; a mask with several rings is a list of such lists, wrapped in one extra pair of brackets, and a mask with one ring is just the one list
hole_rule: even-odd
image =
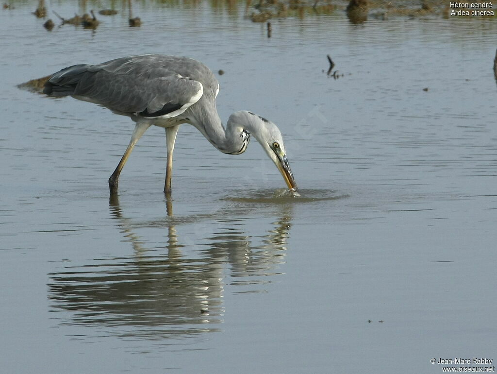
[[(277, 206), (278, 215), (262, 235), (249, 234), (224, 209), (143, 222), (126, 217), (117, 195), (109, 209), (122, 234), (116, 245), (127, 243), (129, 255), (70, 263), (50, 274), (51, 311), (71, 312), (69, 321), (54, 319), (60, 324), (98, 326), (128, 338), (198, 337), (219, 331), (230, 307), (222, 297), (228, 285), (235, 293), (265, 292), (285, 262), (290, 204)], [(254, 208), (242, 209), (250, 215)], [(213, 230), (188, 240), (185, 229), (195, 232), (204, 221)], [(147, 236), (150, 229), (160, 230), (159, 238), (157, 232)]]

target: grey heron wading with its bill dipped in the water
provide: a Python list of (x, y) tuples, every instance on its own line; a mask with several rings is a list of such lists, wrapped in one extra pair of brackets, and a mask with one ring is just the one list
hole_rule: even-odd
[(50, 96), (72, 96), (126, 115), (135, 121), (131, 141), (109, 178), (111, 193), (133, 147), (152, 125), (166, 129), (165, 192), (171, 191), (172, 152), (179, 125), (195, 126), (223, 153), (239, 155), (253, 135), (274, 162), (289, 189), (297, 185), (285, 152), (283, 137), (271, 121), (249, 111), (237, 111), (226, 128), (216, 109), (219, 83), (201, 62), (164, 55), (122, 57), (98, 65), (79, 64), (62, 69), (46, 82)]

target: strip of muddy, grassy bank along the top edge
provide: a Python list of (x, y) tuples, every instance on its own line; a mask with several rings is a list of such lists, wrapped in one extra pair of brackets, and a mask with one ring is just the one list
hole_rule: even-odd
[[(10, 0), (3, 4), (4, 10), (15, 9), (26, 5), (26, 0)], [(50, 9), (44, 0), (31, 2), (37, 4), (33, 14), (38, 18), (47, 18), (49, 13), (57, 11), (56, 3), (51, 3)], [(196, 8), (203, 4), (200, 0), (121, 0), (97, 1), (80, 0), (78, 7), (83, 13), (88, 9), (95, 9), (101, 15), (112, 16), (119, 12), (128, 12), (129, 26), (140, 26), (140, 17), (133, 16), (132, 7), (141, 6), (168, 6)], [(497, 8), (486, 1), (458, 1), (448, 0), (209, 0), (211, 7), (226, 9), (230, 14), (243, 15), (253, 22), (266, 22), (273, 18), (319, 16), (322, 14), (344, 14), (352, 23), (363, 23), (368, 19), (388, 20), (394, 18), (488, 18), (495, 17)], [(490, 4), (490, 6), (489, 6)], [(496, 3), (497, 4), (497, 3)], [(109, 6), (110, 7), (107, 7)], [(32, 6), (32, 5), (31, 5)], [(496, 5), (497, 6), (497, 5)], [(117, 8), (117, 9), (115, 9)], [(76, 9), (75, 9), (76, 10)], [(78, 11), (75, 11), (78, 13)], [(73, 13), (74, 14), (74, 13)], [(73, 18), (62, 18), (62, 24), (71, 23), (95, 28), (99, 21), (94, 15), (76, 15)], [(49, 26), (49, 27), (47, 27)], [(48, 30), (53, 27), (45, 26)]]

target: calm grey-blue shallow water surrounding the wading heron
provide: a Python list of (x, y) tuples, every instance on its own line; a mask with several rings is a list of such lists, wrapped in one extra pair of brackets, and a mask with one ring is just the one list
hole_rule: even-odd
[[(492, 20), (336, 13), (273, 20), (267, 38), (243, 9), (137, 4), (139, 28), (121, 12), (47, 32), (35, 6), (0, 25), (6, 371), (440, 373), (431, 358), (497, 359)], [(220, 115), (277, 123), (303, 198), (274, 195), (284, 181), (255, 140), (227, 156), (184, 125), (172, 200), (160, 128), (109, 199), (131, 121), (15, 86), (140, 53), (223, 69)]]

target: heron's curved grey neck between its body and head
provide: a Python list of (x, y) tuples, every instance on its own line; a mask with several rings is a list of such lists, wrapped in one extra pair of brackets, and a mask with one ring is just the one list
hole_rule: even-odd
[(232, 155), (245, 152), (250, 141), (250, 129), (229, 122), (225, 128), (215, 106), (207, 110), (202, 105), (198, 108), (199, 112), (194, 113), (194, 125), (214, 147)]

